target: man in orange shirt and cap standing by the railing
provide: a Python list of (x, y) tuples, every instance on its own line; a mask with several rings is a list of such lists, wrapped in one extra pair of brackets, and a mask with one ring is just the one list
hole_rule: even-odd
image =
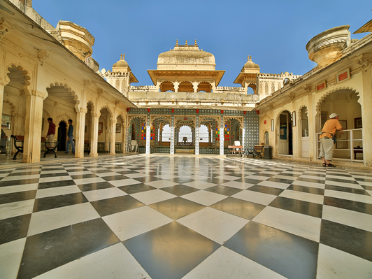
[[(334, 136), (336, 131), (341, 131), (343, 127), (338, 121), (338, 114), (332, 113), (329, 115), (329, 120), (324, 123), (322, 129), (322, 134), (320, 134), (320, 153), (319, 156), (323, 159), (323, 166), (335, 167), (334, 164), (331, 164), (331, 161), (334, 159)], [(341, 132), (343, 134), (343, 132)]]

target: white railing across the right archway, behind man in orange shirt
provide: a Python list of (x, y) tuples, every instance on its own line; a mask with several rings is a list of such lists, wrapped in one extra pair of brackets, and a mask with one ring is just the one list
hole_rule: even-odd
[[(317, 157), (320, 153), (319, 136), (317, 133)], [(361, 129), (350, 129), (336, 132), (336, 145), (334, 149), (334, 159), (348, 162), (363, 162), (363, 136)], [(362, 159), (357, 159), (358, 154), (362, 154)]]

